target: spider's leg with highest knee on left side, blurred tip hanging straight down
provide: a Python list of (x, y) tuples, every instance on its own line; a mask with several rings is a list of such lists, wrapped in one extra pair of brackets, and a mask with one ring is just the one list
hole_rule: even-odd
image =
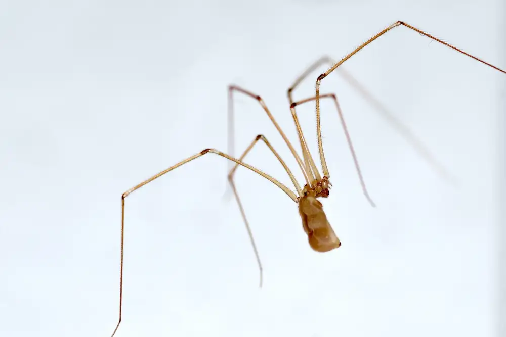
[(274, 119), (274, 117), (272, 116), (271, 112), (269, 111), (269, 109), (267, 108), (267, 106), (265, 105), (264, 103), (264, 100), (262, 100), (262, 98), (259, 96), (259, 95), (256, 95), (254, 93), (251, 93), (241, 87), (238, 87), (236, 85), (230, 85), (229, 88), (229, 95), (228, 95), (228, 148), (229, 148), (229, 152), (233, 155), (234, 154), (234, 109), (233, 109), (233, 91), (238, 91), (238, 92), (242, 92), (243, 94), (253, 98), (253, 99), (256, 99), (260, 105), (262, 106), (262, 108), (264, 109), (264, 111), (267, 113), (267, 116), (269, 116), (269, 119), (271, 120), (271, 122), (274, 124), (274, 126), (276, 127), (276, 129), (278, 130), (278, 132), (281, 134), (281, 137), (283, 137), (284, 141), (286, 142), (286, 145), (288, 146), (288, 148), (290, 149), (291, 153), (293, 154), (293, 157), (295, 157), (295, 159), (297, 160), (297, 163), (299, 164), (299, 167), (301, 168), (302, 170), (302, 173), (304, 174), (304, 179), (306, 180), (306, 183), (311, 185), (311, 181), (310, 181), (310, 178), (309, 178), (309, 173), (306, 172), (305, 168), (304, 168), (304, 163), (302, 162), (301, 160), (301, 157), (299, 157), (299, 155), (297, 154), (297, 152), (295, 151), (295, 149), (293, 148), (293, 146), (291, 145), (290, 141), (288, 140), (288, 138), (286, 137), (286, 135), (284, 134), (283, 130), (281, 130), (281, 127), (279, 127), (278, 123), (276, 122), (276, 120)]

